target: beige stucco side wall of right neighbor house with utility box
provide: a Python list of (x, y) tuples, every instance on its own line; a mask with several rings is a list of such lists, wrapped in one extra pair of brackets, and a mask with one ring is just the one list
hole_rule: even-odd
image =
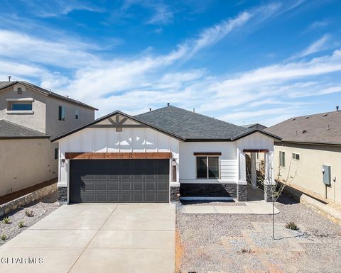
[[(325, 198), (325, 184), (323, 184), (323, 165), (331, 166), (332, 185), (327, 187), (329, 201), (341, 203), (341, 147), (326, 145), (305, 145), (275, 143), (274, 165), (275, 177), (278, 176), (279, 152), (286, 152), (286, 167), (281, 167), (281, 177), (291, 180), (293, 186), (308, 189)], [(292, 154), (300, 155), (300, 160), (293, 160)], [(295, 175), (296, 174), (296, 175)], [(333, 181), (336, 177), (336, 182)]]

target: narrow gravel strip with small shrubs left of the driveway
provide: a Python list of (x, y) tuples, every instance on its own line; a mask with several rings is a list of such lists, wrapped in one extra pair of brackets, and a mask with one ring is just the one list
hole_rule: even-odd
[[(42, 199), (27, 204), (9, 214), (0, 217), (0, 245), (4, 245), (11, 238), (16, 237), (26, 228), (48, 216), (60, 205), (57, 201), (57, 192), (44, 196)], [(4, 223), (6, 219), (9, 223)], [(21, 224), (20, 224), (21, 223)], [(19, 225), (21, 227), (19, 227)]]

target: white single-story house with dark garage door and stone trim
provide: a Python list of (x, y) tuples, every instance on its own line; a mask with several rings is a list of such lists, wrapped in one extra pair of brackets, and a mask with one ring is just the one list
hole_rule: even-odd
[(246, 152), (266, 153), (274, 182), (276, 135), (175, 106), (137, 116), (114, 111), (53, 138), (63, 203), (247, 200)]

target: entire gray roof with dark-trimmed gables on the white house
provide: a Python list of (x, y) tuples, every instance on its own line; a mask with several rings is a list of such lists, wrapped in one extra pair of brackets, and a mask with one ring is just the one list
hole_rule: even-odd
[(51, 141), (65, 138), (67, 135), (104, 121), (116, 114), (130, 118), (133, 121), (182, 141), (234, 141), (256, 132), (263, 133), (271, 138), (280, 139), (276, 135), (258, 129), (247, 129), (175, 106), (166, 106), (137, 116), (129, 116), (121, 111), (114, 111), (69, 133), (59, 135)]

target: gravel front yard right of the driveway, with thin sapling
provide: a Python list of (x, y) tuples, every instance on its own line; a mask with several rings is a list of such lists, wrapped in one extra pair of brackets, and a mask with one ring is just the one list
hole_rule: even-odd
[[(280, 211), (275, 216), (276, 240), (272, 239), (271, 215), (183, 214), (177, 210), (180, 272), (339, 273), (341, 226), (286, 195), (276, 208)], [(291, 221), (299, 230), (285, 227)]]

